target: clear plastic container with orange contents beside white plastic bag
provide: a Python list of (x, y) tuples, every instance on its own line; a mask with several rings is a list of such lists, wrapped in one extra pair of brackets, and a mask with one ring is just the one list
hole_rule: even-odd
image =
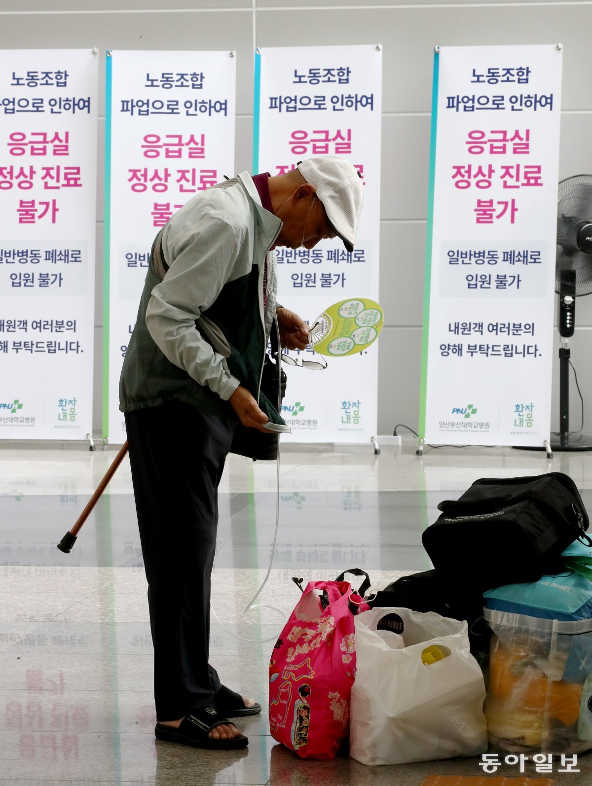
[(592, 748), (592, 619), (563, 622), (484, 609), (491, 626), (485, 701), (493, 749)]

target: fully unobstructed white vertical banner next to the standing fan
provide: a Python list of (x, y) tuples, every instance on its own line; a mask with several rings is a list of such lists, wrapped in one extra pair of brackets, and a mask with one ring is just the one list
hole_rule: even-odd
[(550, 437), (561, 46), (439, 47), (420, 437)]

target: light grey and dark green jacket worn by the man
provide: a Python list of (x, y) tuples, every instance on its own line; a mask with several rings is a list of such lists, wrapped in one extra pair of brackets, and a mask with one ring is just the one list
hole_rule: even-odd
[(150, 256), (123, 362), (120, 410), (176, 399), (236, 420), (228, 399), (242, 384), (270, 421), (283, 423), (277, 409), (259, 398), (277, 288), (270, 246), (280, 230), (281, 221), (262, 207), (247, 172), (194, 196), (175, 213)]

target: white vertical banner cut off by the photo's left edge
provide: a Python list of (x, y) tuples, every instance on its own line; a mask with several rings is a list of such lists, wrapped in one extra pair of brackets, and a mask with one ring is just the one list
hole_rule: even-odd
[(92, 432), (97, 61), (0, 52), (0, 439)]

